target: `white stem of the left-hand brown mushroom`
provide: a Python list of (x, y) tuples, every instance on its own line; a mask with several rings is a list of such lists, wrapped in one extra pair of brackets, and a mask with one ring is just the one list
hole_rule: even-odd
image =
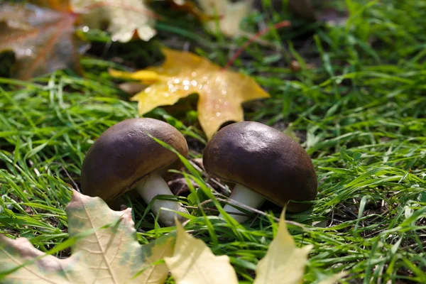
[[(173, 195), (170, 191), (170, 188), (167, 185), (167, 182), (157, 173), (151, 174), (148, 178), (143, 180), (141, 184), (136, 186), (136, 190), (139, 192), (143, 200), (146, 204), (149, 204), (151, 200), (157, 195)], [(176, 214), (175, 212), (171, 212), (168, 210), (164, 210), (161, 208), (168, 208), (174, 211), (182, 212), (185, 214), (189, 214), (185, 207), (182, 207), (182, 203), (172, 201), (172, 200), (155, 200), (153, 206), (151, 207), (151, 211), (155, 216), (160, 212), (160, 216), (158, 216), (158, 220), (161, 223), (165, 224), (165, 226), (174, 226), (175, 225), (175, 217), (182, 222), (185, 220), (184, 217)], [(160, 210), (161, 209), (161, 210)]]

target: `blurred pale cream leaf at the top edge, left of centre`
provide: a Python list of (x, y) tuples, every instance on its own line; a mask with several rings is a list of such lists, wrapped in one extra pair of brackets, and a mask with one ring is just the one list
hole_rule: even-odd
[(72, 11), (89, 28), (103, 28), (107, 23), (112, 40), (128, 42), (136, 32), (142, 40), (155, 35), (155, 14), (143, 0), (69, 0)]

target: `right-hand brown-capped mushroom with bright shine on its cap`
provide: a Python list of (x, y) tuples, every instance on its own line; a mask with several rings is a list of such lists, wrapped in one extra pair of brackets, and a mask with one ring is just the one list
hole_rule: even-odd
[[(268, 199), (287, 205), (288, 212), (301, 212), (311, 204), (297, 202), (317, 195), (314, 165), (302, 146), (258, 122), (238, 122), (219, 130), (204, 148), (203, 165), (209, 175), (236, 184), (229, 199), (249, 207)], [(224, 210), (241, 213), (230, 204)], [(234, 219), (242, 223), (249, 217)]]

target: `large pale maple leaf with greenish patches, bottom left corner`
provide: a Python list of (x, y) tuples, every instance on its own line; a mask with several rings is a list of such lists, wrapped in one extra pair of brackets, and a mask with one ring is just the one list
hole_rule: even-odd
[(76, 191), (66, 212), (70, 237), (76, 237), (72, 256), (44, 256), (28, 239), (0, 235), (0, 275), (26, 264), (1, 283), (164, 283), (167, 266), (153, 263), (172, 255), (171, 235), (141, 246), (131, 209), (113, 211), (99, 197)]

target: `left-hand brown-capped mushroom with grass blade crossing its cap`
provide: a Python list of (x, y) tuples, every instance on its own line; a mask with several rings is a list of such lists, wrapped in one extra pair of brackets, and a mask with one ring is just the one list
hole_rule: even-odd
[[(107, 129), (89, 148), (82, 165), (82, 192), (111, 202), (136, 189), (146, 204), (157, 195), (173, 195), (164, 178), (168, 169), (181, 168), (182, 163), (178, 155), (148, 133), (187, 156), (187, 142), (175, 127), (157, 119), (126, 119)], [(163, 207), (188, 213), (173, 200), (155, 200), (151, 210), (157, 216)], [(161, 210), (158, 219), (173, 226), (175, 216), (182, 219), (174, 212)]]

